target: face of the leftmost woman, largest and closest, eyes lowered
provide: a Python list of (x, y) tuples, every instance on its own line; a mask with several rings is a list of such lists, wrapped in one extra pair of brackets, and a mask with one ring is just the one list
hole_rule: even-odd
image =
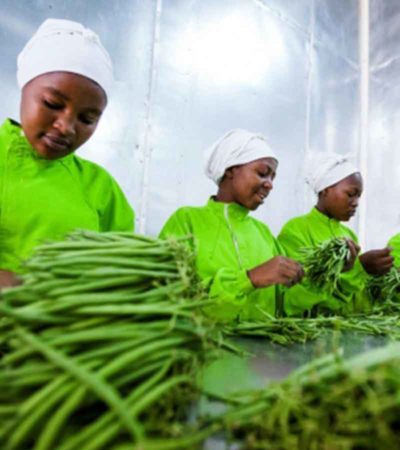
[(22, 129), (42, 158), (59, 159), (90, 138), (106, 104), (94, 81), (70, 72), (46, 73), (22, 90)]

